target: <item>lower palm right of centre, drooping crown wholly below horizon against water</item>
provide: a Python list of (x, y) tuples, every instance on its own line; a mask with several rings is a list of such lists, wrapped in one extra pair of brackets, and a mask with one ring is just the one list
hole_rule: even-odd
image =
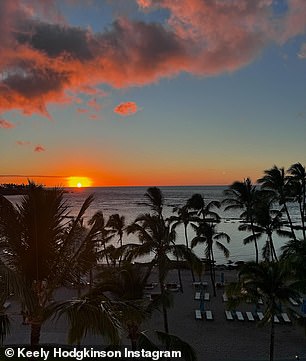
[(204, 254), (209, 263), (210, 278), (214, 296), (216, 296), (214, 244), (223, 252), (225, 257), (229, 257), (229, 250), (219, 240), (225, 239), (227, 243), (230, 241), (230, 236), (224, 232), (217, 232), (216, 226), (216, 224), (207, 223), (205, 221), (199, 222), (197, 226), (193, 225), (196, 237), (194, 237), (191, 241), (192, 248), (196, 247), (198, 244), (205, 244)]

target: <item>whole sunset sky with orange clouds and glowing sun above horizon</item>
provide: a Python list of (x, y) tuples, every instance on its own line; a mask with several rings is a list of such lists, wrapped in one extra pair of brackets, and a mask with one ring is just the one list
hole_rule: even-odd
[(1, 0), (0, 34), (0, 183), (306, 164), (305, 0)]

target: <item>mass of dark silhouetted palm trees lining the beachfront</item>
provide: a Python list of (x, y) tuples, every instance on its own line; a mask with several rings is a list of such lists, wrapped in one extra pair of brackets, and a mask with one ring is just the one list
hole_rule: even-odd
[[(166, 347), (176, 344), (186, 360), (194, 360), (188, 344), (169, 333), (173, 297), (167, 288), (168, 274), (177, 269), (183, 291), (182, 268), (190, 269), (193, 282), (207, 270), (216, 295), (215, 254), (230, 256), (225, 244), (230, 236), (222, 228), (223, 217), (234, 210), (239, 212), (243, 243), (254, 244), (255, 253), (250, 255), (254, 261), (239, 268), (239, 281), (227, 290), (233, 296), (230, 304), (264, 301), (262, 324), (270, 324), (269, 355), (273, 359), (274, 316), (280, 307), (288, 306), (289, 298), (306, 292), (303, 165), (295, 163), (288, 170), (274, 165), (257, 183), (250, 178), (235, 181), (222, 202), (191, 194), (183, 204), (172, 205), (172, 213), (161, 189), (150, 187), (140, 203), (147, 211), (130, 223), (118, 213), (106, 217), (103, 210), (86, 223), (84, 216), (93, 196), (71, 217), (62, 189), (46, 189), (32, 182), (25, 188), (19, 205), (0, 195), (1, 343), (10, 332), (4, 306), (14, 294), (30, 324), (33, 346), (39, 343), (47, 319), (66, 317), (70, 343), (80, 344), (87, 333), (93, 333), (103, 336), (106, 344), (119, 345), (127, 338), (133, 349), (149, 344), (157, 347), (149, 337), (154, 333), (155, 340), (164, 341)], [(180, 229), (183, 239), (178, 236)], [(276, 247), (276, 237), (284, 239), (281, 249)], [(137, 261), (142, 257), (149, 262), (140, 267)], [(154, 272), (160, 294), (151, 300), (145, 291)], [(84, 282), (88, 277), (89, 288)], [(61, 286), (78, 288), (77, 298), (54, 302)], [(157, 310), (161, 310), (163, 332), (144, 329)]]

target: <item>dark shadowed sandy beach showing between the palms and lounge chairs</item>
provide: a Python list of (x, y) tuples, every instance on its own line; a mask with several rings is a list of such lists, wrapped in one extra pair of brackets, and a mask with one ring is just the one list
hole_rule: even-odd
[[(217, 280), (220, 279), (217, 271)], [(236, 279), (236, 271), (222, 271), (225, 274), (225, 282)], [(152, 275), (152, 281), (154, 279)], [(169, 282), (177, 282), (177, 272), (171, 271), (168, 275)], [(210, 301), (204, 304), (205, 310), (211, 310), (213, 320), (207, 321), (195, 319), (195, 310), (200, 308), (200, 301), (194, 300), (195, 288), (192, 285), (190, 272), (182, 272), (184, 292), (173, 292), (174, 306), (169, 309), (170, 333), (187, 341), (197, 351), (198, 360), (267, 360), (269, 352), (269, 326), (258, 327), (258, 322), (227, 321), (224, 310), (226, 303), (222, 295), (224, 289), (217, 289), (217, 296), (213, 297), (209, 275), (202, 277), (202, 281), (208, 282), (205, 292), (210, 293)], [(158, 288), (151, 291), (158, 292)], [(59, 289), (56, 298), (63, 299), (75, 297), (76, 290)], [(17, 304), (11, 302), (9, 312), (13, 318), (11, 335), (5, 344), (28, 344), (30, 327), (21, 325), (21, 316), (18, 314)], [(292, 307), (292, 306), (291, 306)], [(243, 304), (239, 310), (255, 311), (255, 306)], [(144, 325), (144, 329), (163, 331), (161, 312), (155, 312), (150, 321)], [(67, 328), (64, 320), (56, 323), (48, 321), (42, 329), (41, 343), (65, 344), (67, 340)], [(98, 336), (87, 336), (83, 344), (97, 345), (101, 343)], [(299, 355), (300, 360), (306, 359), (306, 338), (302, 328), (295, 324), (277, 324), (275, 334), (275, 359), (294, 360)]]

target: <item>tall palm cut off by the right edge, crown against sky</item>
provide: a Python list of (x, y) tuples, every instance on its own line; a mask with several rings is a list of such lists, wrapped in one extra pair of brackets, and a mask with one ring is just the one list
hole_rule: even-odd
[(293, 191), (293, 196), (299, 204), (303, 238), (306, 240), (306, 170), (301, 163), (295, 163), (289, 168), (288, 172), (290, 173), (289, 184)]

